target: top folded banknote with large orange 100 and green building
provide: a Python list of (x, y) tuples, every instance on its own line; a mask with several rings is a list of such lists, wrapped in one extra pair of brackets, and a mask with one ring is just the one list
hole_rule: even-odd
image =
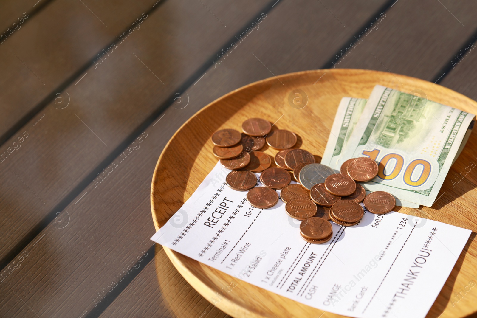
[(431, 206), (473, 128), (475, 115), (377, 85), (337, 164), (367, 156), (378, 175), (363, 184)]

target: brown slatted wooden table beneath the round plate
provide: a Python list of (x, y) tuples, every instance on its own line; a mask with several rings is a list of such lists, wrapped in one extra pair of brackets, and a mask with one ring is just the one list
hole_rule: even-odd
[(336, 67), (477, 99), (477, 2), (343, 1), (1, 2), (0, 316), (226, 317), (149, 240), (149, 193), (172, 134), (227, 92)]

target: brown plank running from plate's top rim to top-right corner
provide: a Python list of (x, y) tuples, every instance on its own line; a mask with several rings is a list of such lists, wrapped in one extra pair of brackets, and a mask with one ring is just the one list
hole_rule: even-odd
[(374, 30), (346, 51), (349, 54), (340, 54), (336, 67), (395, 72), (430, 81), (475, 32), (477, 21), (467, 14), (469, 10), (477, 10), (476, 1), (398, 1)]

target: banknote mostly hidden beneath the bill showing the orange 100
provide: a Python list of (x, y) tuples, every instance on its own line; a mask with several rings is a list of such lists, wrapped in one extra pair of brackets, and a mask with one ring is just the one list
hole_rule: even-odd
[[(367, 99), (343, 97), (334, 117), (328, 143), (326, 144), (321, 164), (328, 165), (334, 170), (340, 170), (338, 164), (341, 155), (349, 145), (348, 141), (353, 133), (353, 129), (363, 113)], [(396, 198), (396, 205), (418, 208), (419, 204)]]

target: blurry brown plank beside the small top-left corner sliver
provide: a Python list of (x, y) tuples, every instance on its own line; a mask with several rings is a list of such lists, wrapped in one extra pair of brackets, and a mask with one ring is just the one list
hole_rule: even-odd
[[(0, 8), (0, 15), (11, 15), (5, 16), (9, 24), (28, 11), (18, 31), (0, 44), (0, 144), (47, 103), (61, 97), (56, 93), (62, 93), (64, 82), (69, 84), (78, 69), (93, 65), (94, 56), (154, 4), (150, 0), (42, 2), (37, 6), (44, 6), (43, 10), (31, 16), (27, 9), (16, 12), (24, 2), (8, 13)], [(61, 98), (56, 101), (61, 108)]]

